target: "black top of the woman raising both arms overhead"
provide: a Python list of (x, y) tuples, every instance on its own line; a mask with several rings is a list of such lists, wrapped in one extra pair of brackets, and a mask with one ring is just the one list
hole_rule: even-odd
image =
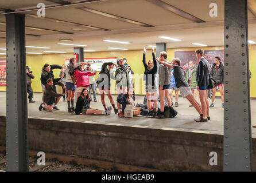
[(143, 53), (142, 62), (143, 62), (144, 68), (145, 68), (143, 80), (146, 81), (146, 86), (148, 86), (148, 84), (151, 86), (154, 86), (155, 74), (157, 73), (157, 61), (156, 61), (156, 56), (154, 55), (154, 53), (152, 53), (152, 57), (153, 57), (154, 66), (152, 69), (149, 69), (149, 67), (146, 63), (146, 54)]

